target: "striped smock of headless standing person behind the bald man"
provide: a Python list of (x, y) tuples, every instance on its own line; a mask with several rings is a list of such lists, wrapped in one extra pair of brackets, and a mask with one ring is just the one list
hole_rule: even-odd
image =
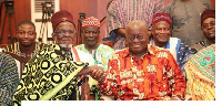
[(152, 17), (163, 10), (162, 0), (113, 0), (108, 6), (107, 33), (103, 41), (112, 41), (114, 50), (125, 47), (125, 36), (114, 32), (133, 20), (145, 21), (148, 28), (151, 26)]

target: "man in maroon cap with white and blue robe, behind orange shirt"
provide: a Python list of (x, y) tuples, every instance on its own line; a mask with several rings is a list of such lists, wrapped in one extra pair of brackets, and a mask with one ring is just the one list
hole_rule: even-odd
[(188, 62), (191, 50), (188, 45), (183, 44), (180, 39), (171, 38), (172, 19), (169, 13), (157, 13), (152, 18), (152, 36), (150, 44), (168, 49), (175, 57), (181, 71), (185, 75), (184, 66)]

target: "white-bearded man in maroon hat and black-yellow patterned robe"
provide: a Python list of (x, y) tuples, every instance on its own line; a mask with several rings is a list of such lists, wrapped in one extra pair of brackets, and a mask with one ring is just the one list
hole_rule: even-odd
[[(72, 49), (75, 42), (75, 25), (70, 12), (61, 10), (52, 18), (52, 38), (56, 44), (48, 45), (26, 64), (21, 82), (14, 95), (14, 105), (21, 100), (79, 100), (84, 76), (80, 71), (103, 70), (91, 55)], [(90, 66), (87, 66), (89, 62)], [(79, 74), (78, 74), (79, 75)], [(83, 77), (83, 78), (82, 78)]]

